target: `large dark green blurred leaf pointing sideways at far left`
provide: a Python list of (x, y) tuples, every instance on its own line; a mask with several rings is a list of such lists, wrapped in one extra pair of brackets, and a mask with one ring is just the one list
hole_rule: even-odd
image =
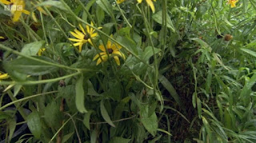
[[(46, 57), (34, 57), (42, 61), (54, 62), (50, 58)], [(17, 58), (10, 62), (5, 62), (4, 66), (7, 69), (14, 70), (18, 73), (25, 73), (30, 75), (43, 75), (46, 73), (54, 72), (58, 70), (56, 66), (50, 66), (42, 62), (37, 62), (29, 58)]]

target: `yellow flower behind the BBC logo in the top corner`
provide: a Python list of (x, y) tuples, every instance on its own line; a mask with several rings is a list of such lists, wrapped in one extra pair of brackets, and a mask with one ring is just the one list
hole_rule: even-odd
[(10, 8), (10, 13), (13, 15), (13, 22), (18, 22), (18, 19), (21, 17), (22, 13), (29, 15), (30, 11), (25, 10), (26, 3), (24, 0), (0, 0), (3, 4), (8, 5), (7, 8)]

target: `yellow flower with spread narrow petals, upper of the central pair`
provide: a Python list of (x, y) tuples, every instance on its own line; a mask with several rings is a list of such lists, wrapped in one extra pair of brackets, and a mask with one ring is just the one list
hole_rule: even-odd
[[(94, 26), (93, 22), (90, 22), (91, 26)], [(94, 29), (90, 28), (90, 26), (86, 26), (86, 31), (83, 29), (83, 27), (79, 24), (80, 29), (82, 30), (74, 30), (74, 32), (70, 31), (70, 34), (72, 34), (75, 38), (69, 38), (70, 41), (76, 42), (74, 43), (74, 46), (79, 46), (79, 52), (82, 51), (82, 45), (85, 44), (86, 42), (89, 42), (91, 45), (93, 43), (91, 40), (98, 36), (98, 33), (94, 33)], [(102, 27), (98, 27), (98, 29), (102, 29)]]

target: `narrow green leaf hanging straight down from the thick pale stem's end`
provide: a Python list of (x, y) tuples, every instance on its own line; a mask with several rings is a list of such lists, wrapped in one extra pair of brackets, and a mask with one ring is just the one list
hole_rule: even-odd
[(87, 113), (85, 107), (85, 91), (83, 89), (83, 76), (78, 78), (78, 81), (75, 85), (75, 104), (80, 113)]

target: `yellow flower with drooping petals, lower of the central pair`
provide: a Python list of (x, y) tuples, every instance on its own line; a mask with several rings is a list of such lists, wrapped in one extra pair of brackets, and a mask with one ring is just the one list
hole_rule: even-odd
[(112, 54), (113, 54), (114, 61), (118, 64), (118, 66), (120, 66), (120, 60), (119, 60), (118, 56), (122, 57), (123, 59), (126, 59), (126, 56), (120, 52), (120, 49), (122, 49), (122, 46), (119, 46), (118, 44), (111, 43), (110, 40), (106, 44), (106, 49), (107, 49), (109, 55), (107, 54), (106, 49), (103, 45), (98, 46), (98, 49), (102, 50), (102, 52), (97, 54), (93, 59), (93, 61), (94, 61), (98, 58), (96, 66), (98, 66), (98, 64), (100, 64), (102, 61), (106, 62), (106, 60)]

